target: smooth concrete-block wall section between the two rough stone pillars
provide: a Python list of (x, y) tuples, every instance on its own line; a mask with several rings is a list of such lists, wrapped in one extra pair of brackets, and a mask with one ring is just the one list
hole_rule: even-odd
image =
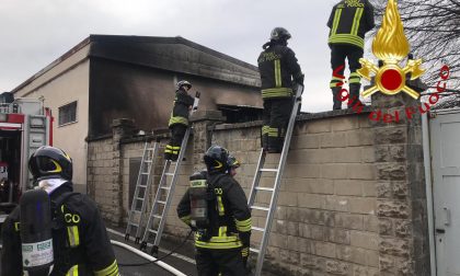
[[(378, 275), (373, 136), (366, 115), (298, 120), (272, 226), (264, 269), (281, 275)], [(241, 162), (235, 179), (249, 195), (260, 154), (260, 126), (219, 125), (212, 143)], [(279, 154), (267, 156), (275, 168)], [(261, 184), (273, 186), (273, 175)], [(269, 195), (258, 192), (257, 205)], [(253, 210), (254, 226), (266, 212)], [(253, 231), (257, 242), (261, 232)]]

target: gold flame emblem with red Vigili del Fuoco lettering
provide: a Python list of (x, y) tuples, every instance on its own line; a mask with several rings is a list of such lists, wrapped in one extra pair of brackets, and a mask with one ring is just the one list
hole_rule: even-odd
[[(404, 67), (400, 66), (410, 53), (410, 44), (404, 34), (403, 23), (398, 11), (396, 0), (389, 0), (387, 9), (382, 19), (382, 25), (378, 31), (376, 37), (372, 41), (372, 53), (382, 61), (380, 66), (376, 66), (372, 61), (365, 58), (360, 58), (359, 62), (361, 68), (357, 72), (368, 81), (371, 77), (375, 77), (373, 85), (361, 92), (361, 96), (368, 97), (376, 92), (381, 92), (386, 95), (395, 95), (400, 92), (404, 92), (413, 99), (418, 99), (419, 94), (406, 84), (406, 80), (416, 80), (424, 72), (422, 66), (422, 59), (409, 59)], [(334, 77), (345, 79), (344, 76), (340, 76), (338, 72), (343, 66), (334, 70)], [(436, 104), (439, 100), (439, 93), (446, 90), (446, 81), (450, 74), (449, 67), (444, 65), (440, 69), (436, 92), (432, 93), (428, 99), (428, 103), (422, 103), (419, 106), (406, 106), (403, 112), (394, 111), (393, 114), (383, 114), (382, 111), (371, 112), (369, 118), (372, 120), (383, 120), (384, 123), (399, 122), (401, 116), (405, 115), (407, 119), (411, 119), (417, 112), (424, 114), (429, 111), (430, 106)], [(337, 83), (337, 87), (342, 87), (343, 82)], [(342, 102), (348, 100), (348, 91), (342, 89), (338, 93), (338, 100)], [(357, 113), (363, 111), (363, 105), (356, 104), (353, 106)]]

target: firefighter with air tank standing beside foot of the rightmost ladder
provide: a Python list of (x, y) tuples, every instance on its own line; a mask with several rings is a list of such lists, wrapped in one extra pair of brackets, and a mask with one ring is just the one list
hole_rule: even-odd
[(199, 276), (246, 275), (251, 212), (242, 187), (228, 174), (228, 159), (227, 149), (210, 147), (204, 156), (207, 172), (192, 175), (177, 205), (179, 217), (195, 231)]

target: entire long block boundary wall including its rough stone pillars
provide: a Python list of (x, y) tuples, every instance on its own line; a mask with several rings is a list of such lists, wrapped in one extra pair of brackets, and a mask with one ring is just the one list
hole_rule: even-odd
[[(264, 263), (266, 272), (280, 275), (414, 275), (412, 272), (417, 260), (426, 260), (426, 252), (413, 253), (414, 246), (424, 244), (423, 235), (411, 238), (416, 235), (412, 232), (414, 226), (424, 226), (419, 211), (414, 214), (411, 209), (423, 205), (423, 195), (409, 200), (405, 196), (410, 192), (404, 191), (412, 191), (411, 185), (416, 183), (382, 176), (382, 168), (388, 165), (398, 168), (403, 175), (416, 174), (422, 165), (411, 162), (411, 159), (418, 160), (418, 141), (414, 141), (416, 131), (404, 133), (410, 128), (404, 128), (402, 123), (396, 128), (405, 129), (402, 135), (409, 140), (404, 138), (390, 149), (392, 142), (383, 143), (382, 137), (398, 139), (401, 131), (392, 134), (393, 129), (381, 128), (387, 126), (371, 125), (368, 112), (329, 112), (299, 117), (272, 227)], [(241, 161), (235, 179), (249, 195), (260, 154), (261, 124), (216, 125), (218, 122), (219, 116), (206, 112), (195, 119), (195, 134), (189, 140), (168, 215), (164, 233), (169, 238), (181, 239), (188, 232), (176, 217), (175, 207), (188, 186), (188, 175), (204, 168), (203, 152), (211, 143), (228, 148)], [(103, 215), (114, 223), (127, 220), (128, 176), (129, 173), (137, 174), (129, 172), (129, 159), (141, 157), (142, 139), (145, 137), (120, 138), (118, 152), (116, 139), (89, 142), (90, 194), (101, 206)], [(165, 142), (163, 139), (161, 147)], [(400, 148), (407, 150), (401, 153)], [(398, 159), (399, 153), (404, 156), (402, 160)], [(392, 159), (386, 159), (386, 154)], [(117, 156), (122, 165), (110, 162)], [(265, 166), (275, 166), (278, 159), (279, 154), (268, 154)], [(111, 170), (111, 164), (119, 169)], [(157, 162), (153, 183), (158, 183), (162, 165), (162, 161)], [(115, 184), (117, 180), (120, 180), (119, 185)], [(264, 175), (261, 180), (266, 186), (273, 182), (274, 175)], [(152, 186), (153, 196), (157, 186)], [(118, 191), (122, 200), (118, 200)], [(263, 206), (269, 197), (262, 193), (256, 202)], [(386, 206), (391, 210), (386, 212)], [(265, 214), (254, 210), (252, 215), (254, 226), (264, 227)], [(252, 242), (260, 239), (261, 233), (253, 231)], [(405, 268), (407, 265), (412, 268)]]

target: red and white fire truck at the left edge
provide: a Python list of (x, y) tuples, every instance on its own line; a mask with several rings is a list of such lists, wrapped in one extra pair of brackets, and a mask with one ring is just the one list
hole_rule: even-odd
[(8, 214), (21, 193), (33, 187), (27, 161), (37, 148), (53, 143), (51, 124), (42, 99), (0, 94), (0, 211)]

